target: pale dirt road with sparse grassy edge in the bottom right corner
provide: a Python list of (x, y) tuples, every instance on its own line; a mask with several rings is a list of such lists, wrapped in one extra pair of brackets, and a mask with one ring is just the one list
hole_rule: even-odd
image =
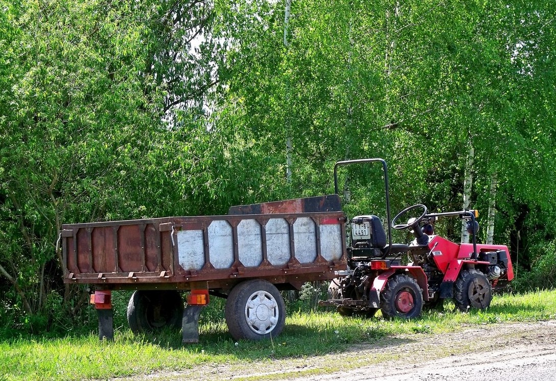
[(556, 320), (400, 335), (349, 352), (260, 364), (201, 366), (126, 380), (556, 380)]

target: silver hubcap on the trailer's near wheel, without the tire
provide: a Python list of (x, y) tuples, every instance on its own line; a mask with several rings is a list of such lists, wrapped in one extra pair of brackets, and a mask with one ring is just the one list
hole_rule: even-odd
[(255, 291), (247, 299), (245, 320), (249, 328), (259, 335), (265, 335), (274, 329), (280, 316), (278, 304), (272, 294)]

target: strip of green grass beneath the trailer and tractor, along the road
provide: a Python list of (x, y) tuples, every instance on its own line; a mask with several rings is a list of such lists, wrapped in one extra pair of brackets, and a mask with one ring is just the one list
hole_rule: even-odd
[(114, 342), (100, 342), (96, 332), (60, 338), (17, 337), (0, 342), (0, 381), (107, 379), (197, 367), (201, 364), (241, 365), (272, 359), (336, 353), (357, 343), (375, 343), (394, 335), (441, 333), (461, 326), (556, 319), (556, 291), (496, 295), (486, 311), (459, 313), (446, 302), (444, 310), (425, 311), (419, 319), (342, 318), (331, 312), (294, 311), (283, 333), (271, 342), (235, 343), (216, 303), (201, 316), (200, 343), (181, 344), (181, 335), (166, 331), (134, 337), (126, 326), (116, 329)]

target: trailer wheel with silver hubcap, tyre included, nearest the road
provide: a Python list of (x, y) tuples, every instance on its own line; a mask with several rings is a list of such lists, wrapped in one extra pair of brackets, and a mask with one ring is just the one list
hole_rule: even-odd
[(234, 339), (262, 340), (274, 338), (284, 329), (286, 306), (273, 284), (247, 280), (231, 290), (225, 316)]

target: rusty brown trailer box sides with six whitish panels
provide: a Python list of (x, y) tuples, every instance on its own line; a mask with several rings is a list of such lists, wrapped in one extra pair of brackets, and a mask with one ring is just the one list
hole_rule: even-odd
[(66, 283), (97, 289), (282, 288), (344, 269), (343, 212), (165, 217), (62, 225)]

